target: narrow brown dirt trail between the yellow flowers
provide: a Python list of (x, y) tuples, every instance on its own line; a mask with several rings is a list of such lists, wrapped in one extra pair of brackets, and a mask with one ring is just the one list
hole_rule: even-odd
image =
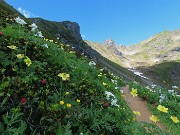
[[(152, 121), (149, 119), (149, 116), (151, 116), (151, 112), (148, 110), (146, 101), (143, 101), (139, 97), (133, 97), (130, 94), (129, 86), (122, 87), (122, 90), (124, 91), (125, 95), (125, 101), (127, 102), (128, 106), (131, 108), (132, 111), (139, 111), (141, 113), (141, 116), (136, 115), (137, 121), (145, 121), (147, 123), (152, 123)], [(161, 129), (165, 129), (163, 125), (157, 123), (157, 126)]]

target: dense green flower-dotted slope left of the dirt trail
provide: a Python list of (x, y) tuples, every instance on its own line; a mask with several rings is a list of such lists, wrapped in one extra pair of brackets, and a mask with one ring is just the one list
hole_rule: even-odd
[[(9, 18), (11, 13), (2, 10), (1, 134), (129, 135), (146, 132), (144, 124), (133, 120), (131, 110), (115, 90), (116, 86), (122, 86), (122, 80), (106, 70), (100, 72), (97, 67), (89, 66), (89, 60), (79, 53), (74, 54), (68, 45), (35, 37), (36, 32), (31, 32), (28, 25), (15, 23), (10, 20), (14, 16)], [(25, 56), (18, 58), (17, 54)], [(62, 80), (59, 73), (69, 77)], [(112, 83), (111, 79), (117, 83)], [(119, 108), (110, 104), (105, 91), (116, 96)]]

